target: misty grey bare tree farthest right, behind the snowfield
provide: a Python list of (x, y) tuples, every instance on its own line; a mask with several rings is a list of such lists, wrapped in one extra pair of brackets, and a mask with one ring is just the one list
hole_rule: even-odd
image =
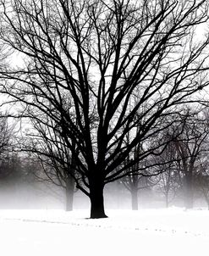
[[(190, 115), (190, 113), (188, 112)], [(183, 174), (184, 206), (193, 207), (195, 175), (202, 153), (206, 152), (209, 132), (204, 113), (194, 113), (184, 124), (184, 131), (175, 143), (179, 155), (179, 170)]]

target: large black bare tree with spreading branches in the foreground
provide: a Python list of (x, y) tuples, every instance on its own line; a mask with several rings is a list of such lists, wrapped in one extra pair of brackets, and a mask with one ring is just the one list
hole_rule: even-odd
[[(195, 35), (208, 19), (208, 3), (1, 0), (1, 5), (1, 38), (24, 60), (1, 70), (1, 92), (21, 103), (22, 117), (47, 126), (45, 120), (52, 120), (50, 129), (75, 159), (83, 184), (77, 186), (91, 200), (91, 218), (106, 217), (104, 186), (139, 173), (124, 170), (156, 148), (117, 167), (169, 125), (164, 120), (170, 113), (178, 119), (179, 104), (194, 101), (194, 92), (208, 84), (209, 37), (200, 41)], [(124, 137), (138, 126), (126, 145)]]

